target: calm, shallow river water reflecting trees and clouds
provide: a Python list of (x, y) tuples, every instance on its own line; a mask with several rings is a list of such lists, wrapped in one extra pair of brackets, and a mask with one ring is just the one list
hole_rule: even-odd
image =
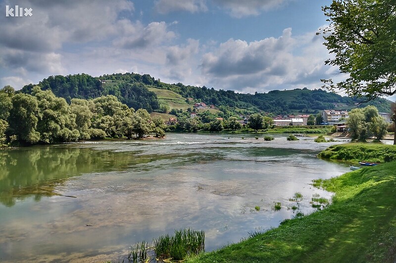
[(167, 134), (0, 151), (0, 262), (122, 262), (130, 245), (184, 227), (205, 231), (206, 251), (238, 242), (293, 218), (295, 192), (305, 214), (313, 194), (330, 198), (311, 180), (349, 167), (315, 157), (328, 146)]

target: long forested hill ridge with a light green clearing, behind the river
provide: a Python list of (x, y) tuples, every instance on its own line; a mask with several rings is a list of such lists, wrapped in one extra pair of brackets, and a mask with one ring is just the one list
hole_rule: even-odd
[[(317, 113), (335, 107), (350, 110), (360, 102), (358, 98), (343, 97), (322, 89), (309, 90), (307, 88), (294, 90), (273, 90), (268, 93), (242, 94), (232, 90), (215, 90), (214, 88), (196, 87), (182, 83), (168, 84), (154, 79), (148, 74), (136, 73), (112, 74), (93, 77), (87, 74), (49, 76), (39, 83), (43, 90), (50, 89), (56, 96), (70, 102), (73, 98), (90, 99), (103, 95), (114, 95), (122, 103), (131, 108), (146, 109), (148, 112), (169, 112), (177, 108), (160, 95), (161, 90), (168, 90), (168, 94), (182, 97), (185, 107), (192, 108), (194, 102), (213, 104), (228, 110), (244, 112), (245, 114), (263, 111), (274, 114)], [(23, 87), (23, 92), (30, 93), (33, 84)], [(150, 91), (151, 90), (151, 91)], [(180, 99), (180, 98), (179, 98)], [(378, 99), (370, 104), (376, 106), (379, 112), (390, 112), (390, 101)], [(361, 107), (367, 104), (361, 105)]]

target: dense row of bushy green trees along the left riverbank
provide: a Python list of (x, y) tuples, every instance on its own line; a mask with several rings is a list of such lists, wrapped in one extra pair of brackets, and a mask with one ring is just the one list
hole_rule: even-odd
[(51, 90), (33, 86), (29, 94), (10, 86), (0, 90), (0, 145), (34, 145), (87, 139), (143, 138), (149, 133), (163, 137), (161, 118), (151, 119), (145, 109), (133, 108), (115, 96), (70, 104)]

